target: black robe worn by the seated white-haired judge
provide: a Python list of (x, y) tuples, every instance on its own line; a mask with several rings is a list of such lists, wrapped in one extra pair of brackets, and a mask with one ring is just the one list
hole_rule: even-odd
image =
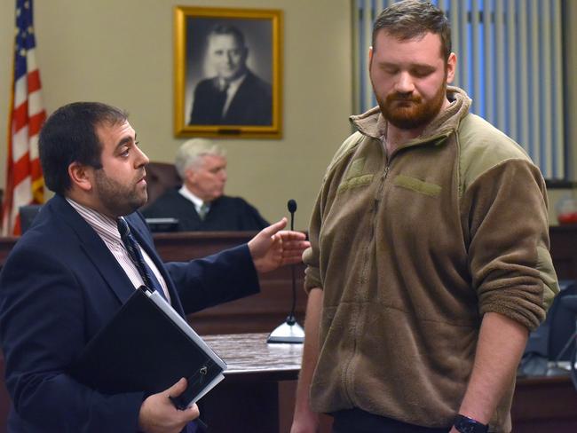
[(258, 231), (268, 225), (247, 201), (227, 195), (213, 201), (209, 213), (202, 220), (194, 203), (178, 193), (177, 189), (163, 193), (142, 213), (147, 218), (177, 218), (179, 232)]

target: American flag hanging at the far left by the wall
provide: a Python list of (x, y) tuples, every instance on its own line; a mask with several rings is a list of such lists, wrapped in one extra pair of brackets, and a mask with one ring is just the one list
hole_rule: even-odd
[(38, 133), (46, 118), (36, 41), (32, 0), (16, 0), (16, 37), (12, 105), (8, 118), (8, 161), (2, 206), (4, 235), (20, 234), (20, 206), (43, 203), (44, 179), (38, 158)]

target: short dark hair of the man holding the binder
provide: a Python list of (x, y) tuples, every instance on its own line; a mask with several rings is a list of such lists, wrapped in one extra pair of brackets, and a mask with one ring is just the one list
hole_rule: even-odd
[(64, 194), (72, 183), (68, 166), (72, 162), (101, 169), (102, 143), (99, 125), (126, 122), (128, 114), (99, 102), (75, 102), (59, 107), (40, 131), (38, 150), (46, 186)]

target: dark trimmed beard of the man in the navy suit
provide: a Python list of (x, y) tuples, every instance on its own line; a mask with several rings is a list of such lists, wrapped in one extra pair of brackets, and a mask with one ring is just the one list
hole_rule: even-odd
[(107, 177), (103, 169), (96, 170), (95, 180), (99, 200), (111, 216), (129, 215), (146, 204), (148, 199), (146, 188), (140, 193), (136, 185), (142, 176), (130, 185), (123, 185)]

